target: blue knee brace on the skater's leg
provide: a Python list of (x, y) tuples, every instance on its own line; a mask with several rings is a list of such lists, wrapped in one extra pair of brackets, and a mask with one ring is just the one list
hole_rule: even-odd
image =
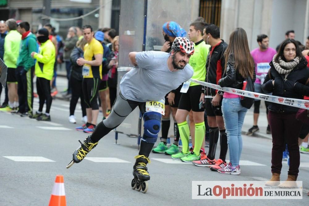
[(155, 143), (161, 128), (162, 115), (158, 112), (145, 112), (144, 119), (144, 135), (142, 140), (147, 143)]

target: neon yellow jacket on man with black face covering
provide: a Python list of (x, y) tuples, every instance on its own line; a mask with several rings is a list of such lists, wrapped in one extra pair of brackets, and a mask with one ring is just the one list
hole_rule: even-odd
[(35, 71), (37, 77), (52, 80), (54, 75), (54, 63), (56, 60), (56, 49), (52, 41), (47, 40), (41, 44), (39, 53), (34, 55), (36, 61)]

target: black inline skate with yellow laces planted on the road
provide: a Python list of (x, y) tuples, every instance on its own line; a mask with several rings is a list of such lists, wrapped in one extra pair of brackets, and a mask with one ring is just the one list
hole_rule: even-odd
[(133, 166), (133, 176), (131, 182), (132, 189), (137, 191), (142, 190), (146, 193), (148, 190), (148, 182), (150, 180), (149, 173), (147, 172), (146, 164), (150, 163), (150, 160), (145, 155), (137, 155), (134, 157), (136, 159), (135, 165)]

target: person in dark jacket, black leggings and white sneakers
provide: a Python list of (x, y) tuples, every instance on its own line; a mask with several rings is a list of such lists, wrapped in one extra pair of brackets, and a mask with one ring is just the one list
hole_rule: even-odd
[(83, 122), (87, 122), (87, 116), (86, 116), (86, 103), (84, 101), (84, 95), (82, 90), (82, 81), (83, 81), (83, 75), (82, 75), (82, 66), (78, 66), (76, 63), (78, 58), (84, 57), (84, 46), (87, 44), (87, 41), (82, 38), (76, 43), (76, 47), (72, 50), (70, 60), (72, 63), (72, 69), (70, 72), (70, 85), (72, 89), (72, 98), (70, 100), (70, 117), (69, 121), (71, 123), (76, 123), (76, 119), (74, 116), (74, 111), (78, 102), (78, 99), (80, 98), (80, 105), (82, 107), (82, 114), (83, 114)]

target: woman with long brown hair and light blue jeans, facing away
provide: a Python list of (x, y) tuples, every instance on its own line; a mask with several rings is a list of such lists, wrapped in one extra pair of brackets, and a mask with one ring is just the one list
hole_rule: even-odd
[[(243, 81), (250, 77), (255, 81), (255, 65), (250, 54), (247, 34), (243, 28), (236, 28), (230, 35), (230, 44), (225, 52), (226, 70), (218, 84), (221, 87), (243, 88)], [(224, 92), (222, 113), (228, 146), (230, 163), (218, 172), (224, 174), (240, 174), (239, 160), (243, 147), (241, 128), (247, 113), (247, 108), (240, 104), (240, 97), (236, 94)]]

